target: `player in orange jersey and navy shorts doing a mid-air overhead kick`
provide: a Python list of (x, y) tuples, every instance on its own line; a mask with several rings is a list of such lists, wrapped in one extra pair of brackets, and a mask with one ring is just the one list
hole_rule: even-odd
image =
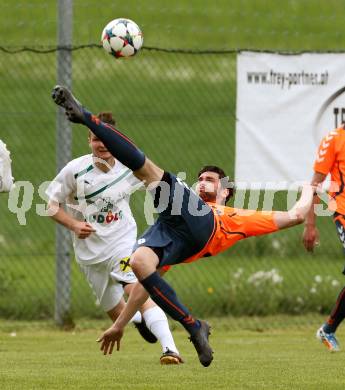
[[(130, 264), (140, 283), (134, 287), (125, 310), (100, 337), (101, 350), (104, 354), (112, 353), (115, 342), (117, 349), (120, 348), (124, 326), (149, 294), (167, 314), (181, 323), (190, 334), (199, 361), (203, 366), (209, 366), (213, 359), (208, 342), (210, 327), (206, 321), (194, 318), (178, 300), (175, 291), (160, 276), (161, 267), (213, 256), (241, 239), (302, 223), (312, 202), (312, 187), (306, 185), (303, 188), (300, 200), (288, 212), (255, 212), (225, 207), (218, 203), (224, 204), (230, 190), (229, 186), (222, 185), (217, 172), (207, 169), (201, 172), (197, 189), (199, 197), (173, 174), (150, 161), (126, 136), (85, 110), (65, 87), (56, 86), (52, 97), (65, 109), (70, 121), (87, 126), (116, 159), (145, 183), (153, 192), (159, 212), (154, 225), (137, 241), (131, 256)], [(160, 197), (167, 188), (168, 198)], [(179, 215), (176, 215), (177, 204)]]

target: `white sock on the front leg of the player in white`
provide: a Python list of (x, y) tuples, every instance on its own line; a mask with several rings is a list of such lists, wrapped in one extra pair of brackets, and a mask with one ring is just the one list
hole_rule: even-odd
[(147, 327), (160, 342), (163, 353), (169, 349), (170, 351), (178, 354), (179, 352), (170, 332), (168, 319), (164, 311), (160, 307), (154, 306), (144, 311), (143, 318)]

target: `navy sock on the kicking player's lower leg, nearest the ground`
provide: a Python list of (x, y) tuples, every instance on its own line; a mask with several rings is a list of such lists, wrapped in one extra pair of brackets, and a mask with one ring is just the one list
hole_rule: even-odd
[(153, 272), (140, 281), (152, 300), (171, 318), (178, 321), (189, 334), (193, 335), (200, 328), (200, 321), (194, 319), (189, 310), (177, 299), (175, 291), (158, 274)]

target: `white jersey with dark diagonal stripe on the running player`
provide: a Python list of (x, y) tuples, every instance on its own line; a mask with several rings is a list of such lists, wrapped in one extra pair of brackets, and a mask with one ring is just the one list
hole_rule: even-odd
[(60, 171), (47, 188), (49, 199), (65, 204), (68, 213), (96, 230), (86, 239), (72, 234), (78, 262), (96, 264), (131, 255), (137, 226), (129, 199), (141, 186), (120, 161), (105, 173), (91, 154), (72, 160)]

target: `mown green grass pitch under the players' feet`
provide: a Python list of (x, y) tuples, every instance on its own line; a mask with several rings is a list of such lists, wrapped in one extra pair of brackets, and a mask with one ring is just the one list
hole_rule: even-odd
[[(126, 331), (120, 352), (103, 356), (95, 342), (106, 321), (73, 331), (47, 323), (0, 323), (0, 387), (7, 389), (343, 389), (344, 352), (329, 353), (315, 339), (322, 318), (309, 325), (230, 330), (233, 319), (214, 319), (214, 361), (202, 367), (186, 333), (173, 334), (186, 363), (160, 366), (158, 345)], [(267, 319), (269, 324), (270, 319)], [(230, 327), (230, 328), (229, 328)], [(268, 328), (267, 328), (268, 329)], [(345, 333), (339, 331), (340, 340)]]

